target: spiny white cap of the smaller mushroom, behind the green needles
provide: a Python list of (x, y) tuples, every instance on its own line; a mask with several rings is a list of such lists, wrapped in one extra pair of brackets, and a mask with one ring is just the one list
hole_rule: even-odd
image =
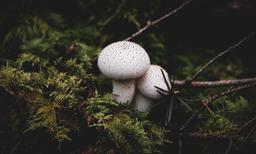
[[(170, 86), (168, 80), (168, 73), (158, 65), (150, 65), (150, 69), (139, 79), (136, 80), (136, 86), (138, 90), (147, 98), (151, 99), (161, 99), (163, 96), (157, 92), (157, 86), (168, 91), (167, 85), (165, 84), (161, 69), (167, 79), (167, 82)], [(162, 91), (161, 91), (162, 92)], [(164, 92), (163, 92), (164, 93)]]

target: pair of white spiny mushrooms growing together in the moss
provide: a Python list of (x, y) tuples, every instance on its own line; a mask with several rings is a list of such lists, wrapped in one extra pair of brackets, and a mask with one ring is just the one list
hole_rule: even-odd
[(99, 55), (98, 67), (112, 79), (114, 99), (129, 104), (133, 101), (134, 110), (145, 112), (154, 99), (162, 98), (154, 86), (167, 90), (162, 68), (150, 65), (147, 53), (136, 43), (120, 41), (106, 46)]

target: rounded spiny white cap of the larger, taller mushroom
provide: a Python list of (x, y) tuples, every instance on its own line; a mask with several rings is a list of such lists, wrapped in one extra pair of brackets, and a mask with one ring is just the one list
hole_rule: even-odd
[(136, 43), (119, 41), (106, 46), (99, 55), (102, 74), (114, 80), (140, 78), (150, 66), (150, 58)]

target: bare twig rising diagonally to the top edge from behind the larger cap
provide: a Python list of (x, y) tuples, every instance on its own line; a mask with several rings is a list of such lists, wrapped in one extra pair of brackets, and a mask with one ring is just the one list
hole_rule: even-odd
[[(185, 2), (185, 3), (182, 4), (179, 8), (177, 8), (177, 9), (175, 9), (174, 11), (172, 11), (172, 12), (170, 12), (170, 13), (164, 15), (163, 17), (157, 19), (156, 21), (152, 21), (152, 22), (151, 22), (151, 21), (147, 21), (147, 24), (146, 24), (146, 26), (145, 26), (143, 29), (139, 30), (137, 33), (133, 34), (131, 37), (126, 38), (124, 41), (129, 41), (129, 40), (131, 40), (132, 38), (134, 38), (134, 37), (136, 37), (137, 35), (139, 35), (140, 33), (144, 32), (146, 29), (148, 29), (148, 28), (151, 27), (152, 25), (154, 25), (154, 24), (158, 23), (159, 21), (161, 21), (161, 20), (167, 18), (168, 16), (170, 16), (170, 15), (176, 13), (177, 11), (179, 11), (180, 9), (182, 9), (185, 5), (187, 5), (187, 4), (190, 3), (191, 1), (192, 1), (192, 0), (189, 0), (189, 1)], [(99, 58), (99, 56), (95, 57), (91, 62), (93, 63), (93, 62), (96, 61), (98, 58)]]

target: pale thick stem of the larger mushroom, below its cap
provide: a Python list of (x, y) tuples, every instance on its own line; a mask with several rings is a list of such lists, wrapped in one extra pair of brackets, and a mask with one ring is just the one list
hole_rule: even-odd
[[(113, 94), (117, 102), (132, 102), (135, 93), (135, 80), (132, 81), (115, 81), (113, 80)], [(119, 95), (119, 96), (117, 96)]]

